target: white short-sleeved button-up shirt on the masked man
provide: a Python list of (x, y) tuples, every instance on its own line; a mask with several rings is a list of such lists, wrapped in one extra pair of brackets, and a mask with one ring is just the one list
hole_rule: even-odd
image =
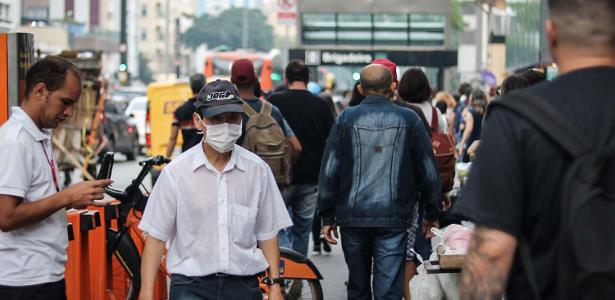
[(199, 144), (163, 169), (139, 228), (169, 242), (170, 273), (205, 276), (264, 271), (268, 264), (257, 240), (291, 225), (263, 160), (235, 145), (220, 173)]

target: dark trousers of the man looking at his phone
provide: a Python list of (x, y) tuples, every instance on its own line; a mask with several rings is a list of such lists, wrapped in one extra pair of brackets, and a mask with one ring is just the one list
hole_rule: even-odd
[(66, 300), (66, 282), (64, 279), (26, 286), (0, 285), (2, 300)]

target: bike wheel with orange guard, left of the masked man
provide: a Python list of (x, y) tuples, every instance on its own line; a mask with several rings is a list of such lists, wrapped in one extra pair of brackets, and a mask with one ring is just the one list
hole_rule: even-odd
[[(107, 229), (107, 241), (113, 241), (117, 234), (117, 231)], [(128, 234), (113, 251), (111, 266), (113, 294), (117, 299), (136, 300), (141, 288), (141, 257)]]

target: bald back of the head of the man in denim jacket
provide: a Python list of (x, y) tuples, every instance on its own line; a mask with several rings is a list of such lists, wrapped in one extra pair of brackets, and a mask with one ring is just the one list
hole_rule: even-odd
[(390, 96), (393, 91), (393, 76), (383, 65), (371, 64), (361, 70), (359, 91), (365, 96)]

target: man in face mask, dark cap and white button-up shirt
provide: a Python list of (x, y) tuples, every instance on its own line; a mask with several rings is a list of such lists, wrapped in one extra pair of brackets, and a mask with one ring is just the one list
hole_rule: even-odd
[(140, 299), (153, 299), (167, 242), (171, 299), (262, 299), (257, 276), (267, 268), (269, 299), (282, 299), (277, 234), (292, 222), (268, 165), (235, 145), (239, 93), (228, 81), (214, 81), (195, 106), (202, 147), (164, 168), (139, 225), (148, 234)]

